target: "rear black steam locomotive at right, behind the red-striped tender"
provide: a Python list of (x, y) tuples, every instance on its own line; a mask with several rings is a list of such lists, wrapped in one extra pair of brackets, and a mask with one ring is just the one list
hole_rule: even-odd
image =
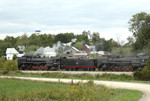
[(97, 66), (102, 71), (140, 71), (146, 65), (147, 60), (149, 60), (149, 56), (122, 57), (108, 55), (97, 59)]

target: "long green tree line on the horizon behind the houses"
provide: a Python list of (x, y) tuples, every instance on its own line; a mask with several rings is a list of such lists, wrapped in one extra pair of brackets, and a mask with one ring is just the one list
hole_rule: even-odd
[(33, 33), (31, 36), (23, 34), (18, 37), (6, 36), (4, 40), (0, 40), (0, 56), (5, 55), (7, 48), (16, 48), (17, 46), (25, 46), (25, 52), (35, 51), (37, 48), (43, 46), (52, 47), (58, 41), (61, 43), (71, 42), (72, 39), (76, 38), (76, 42), (73, 42), (72, 45), (78, 48), (79, 50), (83, 49), (84, 44), (95, 45), (97, 51), (111, 51), (114, 46), (118, 46), (118, 43), (113, 39), (105, 40), (100, 38), (100, 34), (92, 33), (89, 38), (90, 31), (83, 31), (82, 34), (74, 33), (59, 33), (57, 35), (52, 34), (36, 34)]

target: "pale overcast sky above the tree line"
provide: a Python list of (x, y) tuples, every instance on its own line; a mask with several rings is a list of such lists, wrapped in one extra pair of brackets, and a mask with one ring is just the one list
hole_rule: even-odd
[(150, 0), (0, 0), (0, 39), (39, 28), (51, 34), (90, 30), (125, 40), (132, 36), (128, 21), (141, 11), (150, 14)]

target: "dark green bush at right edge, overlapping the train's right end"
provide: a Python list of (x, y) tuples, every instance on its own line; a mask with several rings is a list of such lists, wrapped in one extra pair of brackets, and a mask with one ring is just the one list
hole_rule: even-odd
[(147, 61), (142, 71), (135, 71), (133, 76), (137, 80), (150, 80), (150, 60)]

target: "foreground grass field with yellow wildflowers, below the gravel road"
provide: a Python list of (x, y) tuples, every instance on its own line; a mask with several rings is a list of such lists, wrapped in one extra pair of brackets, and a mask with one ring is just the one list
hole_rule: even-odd
[(0, 101), (137, 101), (140, 91), (83, 84), (0, 79)]

